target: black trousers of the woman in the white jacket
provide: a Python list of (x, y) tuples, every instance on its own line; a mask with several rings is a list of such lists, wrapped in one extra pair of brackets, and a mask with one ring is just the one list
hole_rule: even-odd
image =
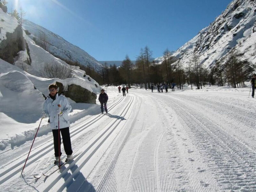
[[(60, 129), (60, 133), (62, 136), (62, 142), (63, 142), (65, 153), (67, 155), (71, 155), (73, 153), (73, 151), (71, 148), (69, 127)], [(58, 129), (52, 130), (52, 134), (53, 134), (53, 144), (54, 144), (54, 155), (55, 155), (55, 157), (58, 157), (59, 156), (59, 145), (58, 145), (59, 130)], [(61, 144), (61, 140), (60, 140), (60, 144)], [(60, 155), (61, 154), (62, 153), (60, 152)]]

